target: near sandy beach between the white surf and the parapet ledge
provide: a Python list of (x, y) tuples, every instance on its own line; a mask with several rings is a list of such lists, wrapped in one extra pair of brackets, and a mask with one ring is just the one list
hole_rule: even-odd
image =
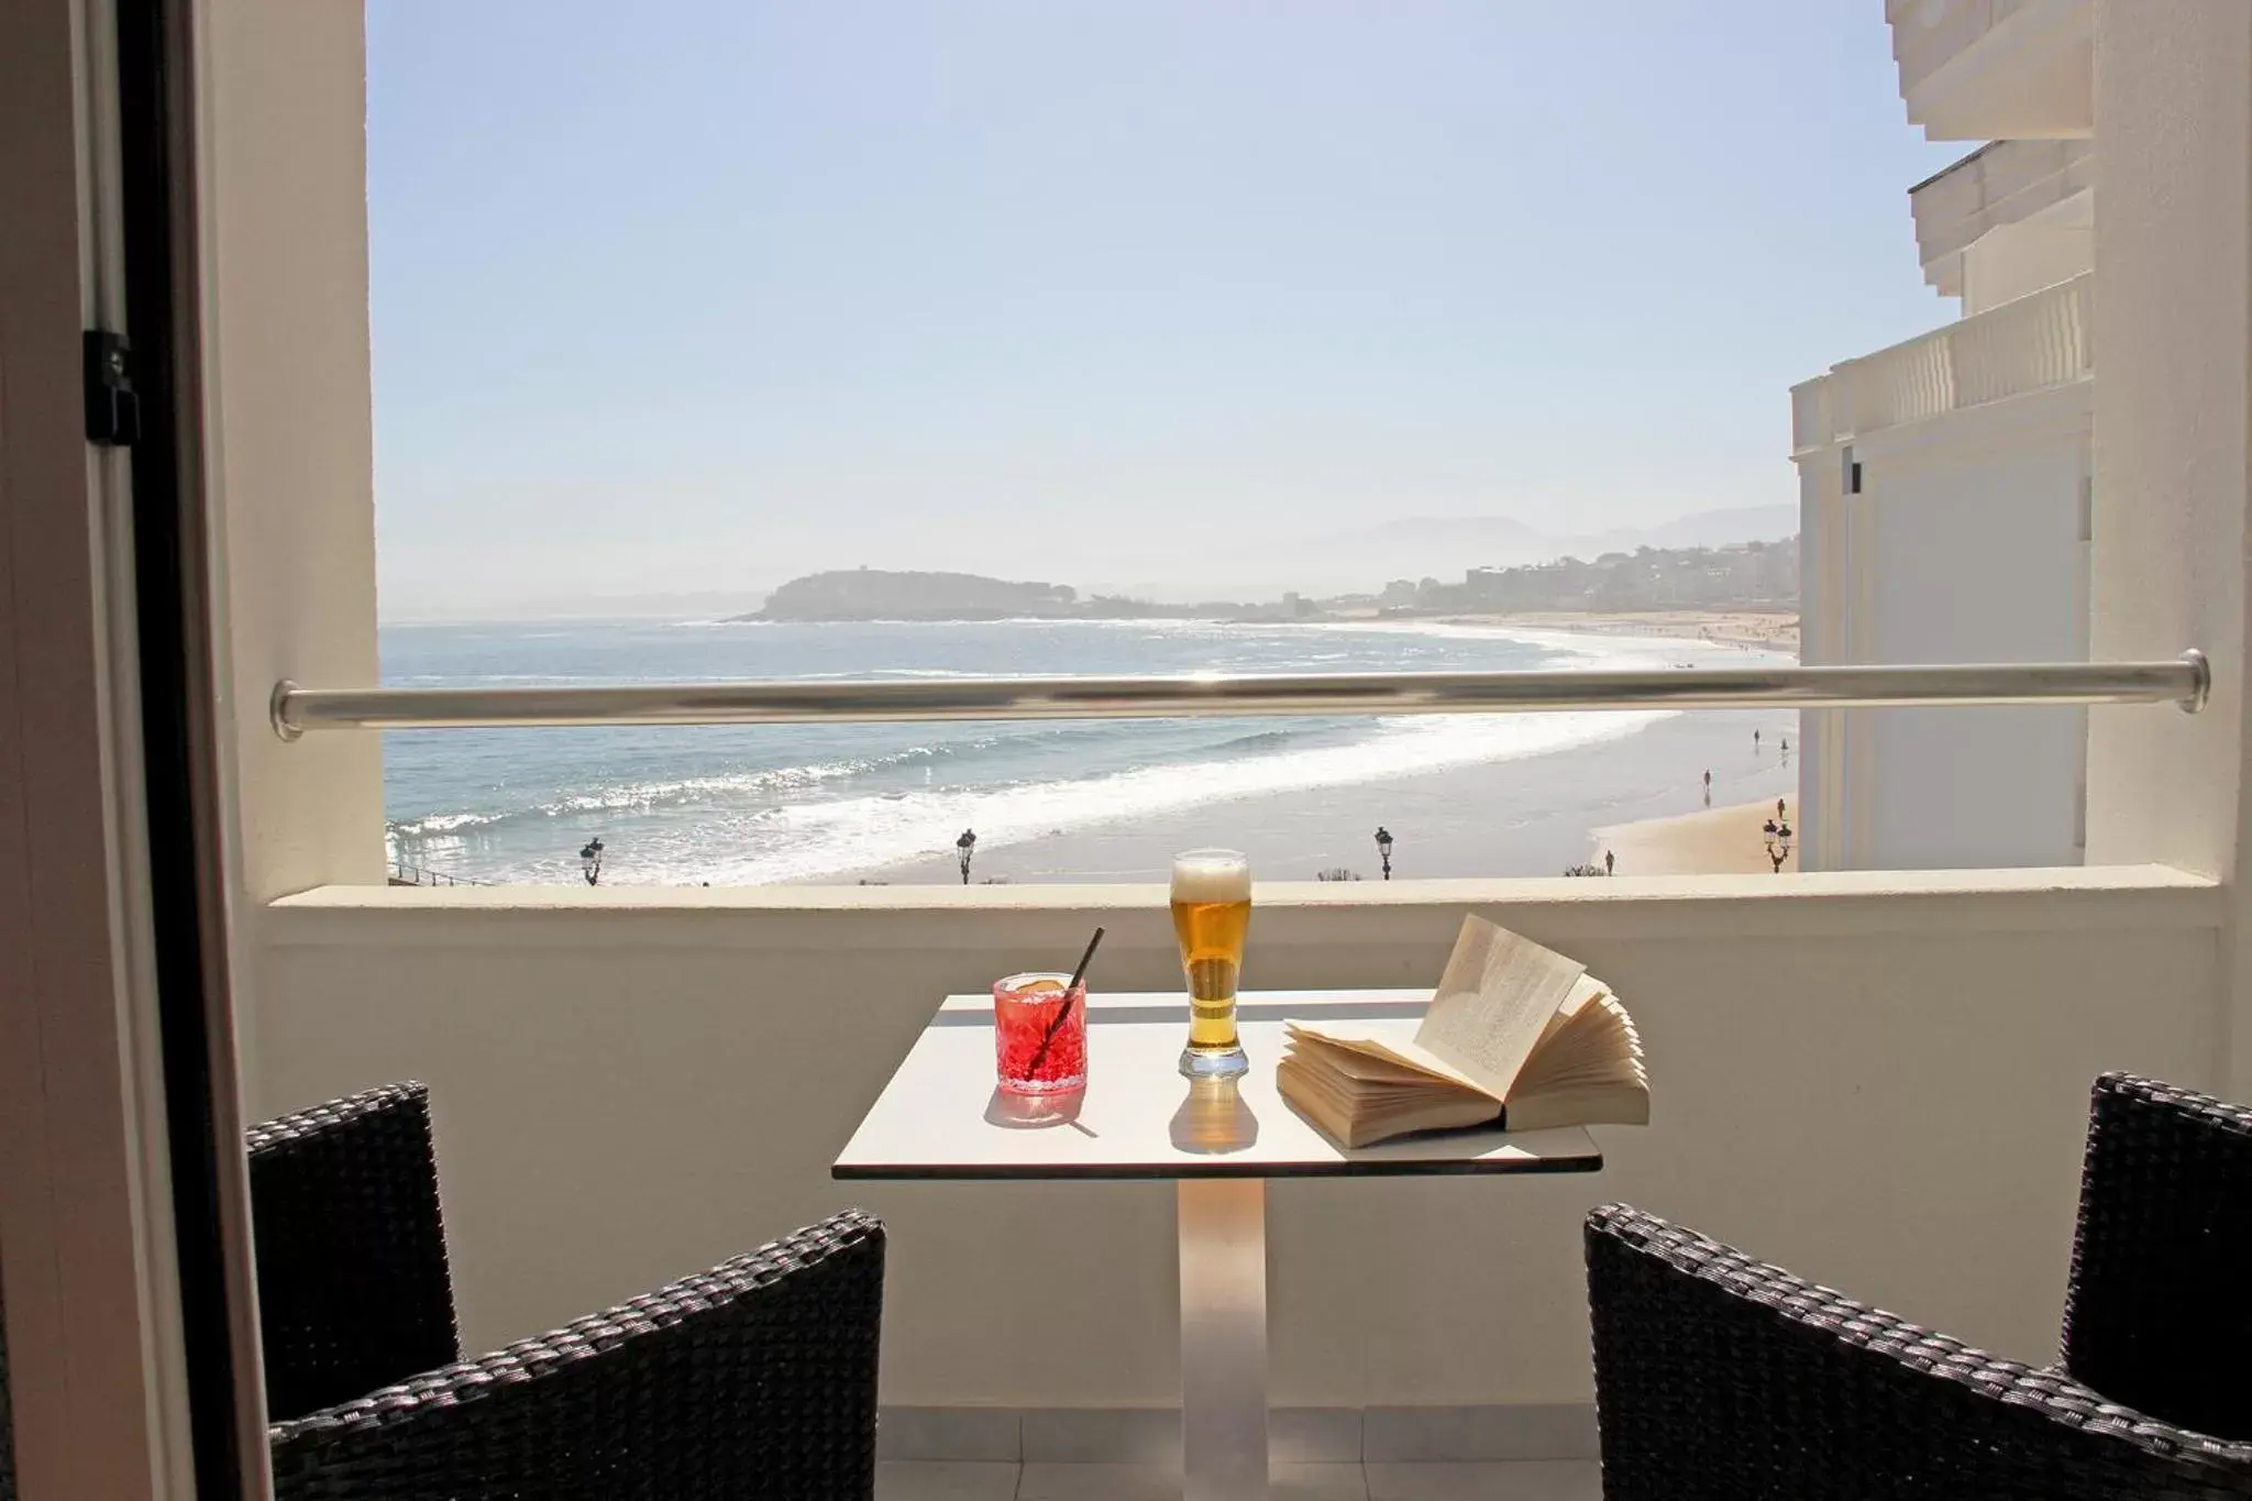
[[(1759, 749), (1752, 729), (1761, 731)], [(1639, 824), (1705, 812), (1705, 770), (1712, 770), (1712, 799), (1723, 808), (1763, 801), (1772, 810), (1777, 797), (1797, 808), (1799, 767), (1795, 756), (1784, 758), (1784, 736), (1799, 738), (1795, 711), (1675, 713), (1619, 740), (1549, 756), (1214, 801), (980, 846), (971, 880), (1162, 882), (1176, 851), (1205, 844), (1245, 851), (1261, 880), (1313, 880), (1338, 866), (1378, 880), (1378, 824), (1394, 835), (1392, 871), (1403, 880), (1561, 875), (1590, 860), (1590, 851), (1601, 862), (1597, 830), (1626, 839)], [(1752, 819), (1736, 851), (1736, 835), (1716, 826), (1700, 844), (1714, 860), (1709, 869), (1768, 869), (1757, 835), (1759, 819)], [(1680, 857), (1651, 844), (1635, 844), (1635, 851), (1648, 855), (1619, 848), (1619, 875), (1657, 873), (1639, 864), (1644, 857)], [(962, 880), (953, 851), (858, 875), (899, 884)]]

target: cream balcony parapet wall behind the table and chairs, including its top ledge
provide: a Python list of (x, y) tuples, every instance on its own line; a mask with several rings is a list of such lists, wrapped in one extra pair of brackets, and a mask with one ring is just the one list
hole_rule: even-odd
[[(1484, 909), (1619, 986), (1657, 1089), (1592, 1177), (1277, 1184), (1277, 1402), (1585, 1402), (1579, 1217), (1603, 1199), (2054, 1355), (2090, 1078), (2218, 1082), (2220, 891), (2155, 869), (1784, 889), (1261, 887), (1252, 983), (1430, 981)], [(266, 914), (252, 1109), (430, 1082), (473, 1348), (858, 1202), (892, 1226), (887, 1402), (1162, 1406), (1167, 1186), (826, 1175), (939, 995), (1094, 923), (1101, 983), (1176, 983), (1162, 900), (331, 887)]]

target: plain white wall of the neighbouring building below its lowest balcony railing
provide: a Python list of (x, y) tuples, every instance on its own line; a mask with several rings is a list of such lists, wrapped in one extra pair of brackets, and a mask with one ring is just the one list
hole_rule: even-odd
[[(1858, 495), (1838, 495), (1838, 448), (1799, 455), (1806, 659), (2085, 659), (2092, 394), (1858, 437)], [(1806, 736), (1806, 869), (2081, 860), (2081, 709), (1883, 709)]]

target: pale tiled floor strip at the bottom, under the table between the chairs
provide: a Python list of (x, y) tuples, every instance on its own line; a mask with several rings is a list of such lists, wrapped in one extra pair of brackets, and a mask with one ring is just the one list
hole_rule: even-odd
[[(1592, 1460), (1493, 1465), (1275, 1465), (1275, 1501), (1601, 1501)], [(883, 1460), (876, 1501), (1171, 1501), (1162, 1465)]]

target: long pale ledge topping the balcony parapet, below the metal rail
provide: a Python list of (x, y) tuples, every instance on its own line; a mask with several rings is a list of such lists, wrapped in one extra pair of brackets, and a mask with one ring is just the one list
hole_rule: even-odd
[[(1106, 916), (1162, 923), (1160, 884), (1038, 887), (315, 887), (270, 902), (254, 943), (430, 945), (844, 941), (982, 947), (1013, 927), (1076, 932)], [(1817, 871), (1529, 880), (1261, 882), (1257, 923), (1293, 941), (1351, 943), (1403, 927), (1444, 941), (1466, 909), (1513, 914), (1554, 938), (1806, 936), (1867, 932), (2218, 929), (2223, 889), (2171, 866)]]

